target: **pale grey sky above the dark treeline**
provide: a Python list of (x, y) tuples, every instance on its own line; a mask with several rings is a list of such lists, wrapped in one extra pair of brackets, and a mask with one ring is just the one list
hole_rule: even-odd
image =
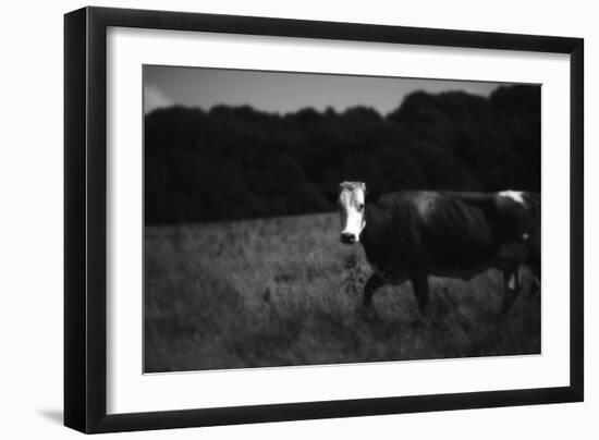
[(414, 80), (313, 73), (281, 73), (184, 66), (144, 66), (144, 112), (174, 105), (209, 110), (216, 105), (249, 105), (286, 113), (313, 107), (344, 111), (372, 107), (381, 114), (396, 109), (416, 90), (464, 90), (489, 96), (501, 83)]

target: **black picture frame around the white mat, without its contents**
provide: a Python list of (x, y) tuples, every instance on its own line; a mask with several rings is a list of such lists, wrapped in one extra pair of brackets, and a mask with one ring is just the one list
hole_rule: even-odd
[[(107, 415), (109, 26), (570, 54), (570, 384)], [(583, 401), (583, 65), (582, 38), (105, 8), (65, 14), (64, 425), (91, 433)]]

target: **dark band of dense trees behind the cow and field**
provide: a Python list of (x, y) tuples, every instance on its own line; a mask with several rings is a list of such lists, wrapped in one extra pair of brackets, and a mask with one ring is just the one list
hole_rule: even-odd
[(217, 106), (145, 119), (146, 223), (329, 210), (321, 193), (344, 180), (383, 192), (540, 191), (540, 87), (417, 91), (386, 117)]

